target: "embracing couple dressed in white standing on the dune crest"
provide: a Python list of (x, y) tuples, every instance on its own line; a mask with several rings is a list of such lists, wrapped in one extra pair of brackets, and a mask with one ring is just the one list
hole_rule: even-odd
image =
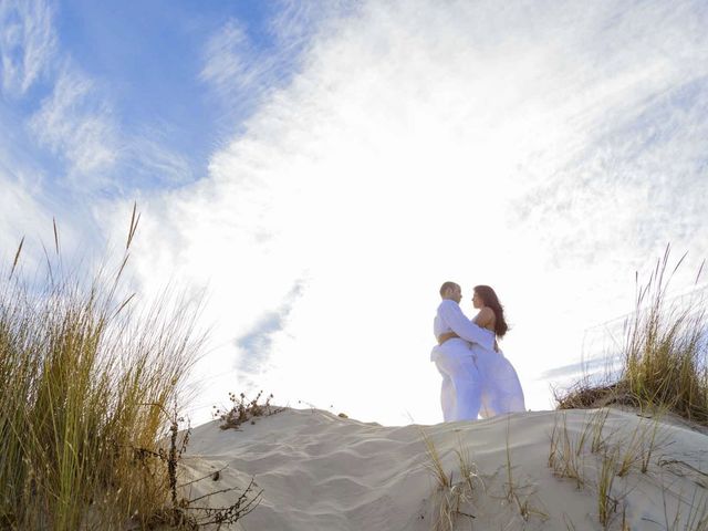
[(442, 302), (434, 322), (438, 345), (430, 353), (442, 375), (440, 404), (447, 421), (475, 420), (524, 412), (517, 372), (499, 350), (507, 333), (503, 309), (488, 285), (477, 285), (472, 304), (479, 313), (469, 320), (459, 306), (462, 290), (455, 282), (440, 287)]

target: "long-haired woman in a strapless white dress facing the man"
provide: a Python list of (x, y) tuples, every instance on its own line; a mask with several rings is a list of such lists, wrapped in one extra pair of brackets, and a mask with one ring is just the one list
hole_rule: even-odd
[[(490, 330), (501, 340), (509, 330), (504, 320), (504, 310), (494, 290), (489, 285), (476, 285), (472, 305), (479, 310), (472, 322), (482, 329)], [(441, 344), (456, 334), (442, 334), (438, 337)], [(524, 412), (523, 389), (519, 376), (509, 360), (496, 347), (497, 352), (488, 351), (479, 345), (475, 346), (477, 368), (482, 382), (482, 398), (480, 414), (483, 418), (504, 413)]]

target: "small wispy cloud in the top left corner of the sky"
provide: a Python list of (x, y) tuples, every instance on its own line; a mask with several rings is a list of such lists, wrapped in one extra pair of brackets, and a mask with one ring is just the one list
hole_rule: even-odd
[(42, 0), (0, 1), (2, 90), (24, 94), (44, 74), (56, 53), (52, 8)]

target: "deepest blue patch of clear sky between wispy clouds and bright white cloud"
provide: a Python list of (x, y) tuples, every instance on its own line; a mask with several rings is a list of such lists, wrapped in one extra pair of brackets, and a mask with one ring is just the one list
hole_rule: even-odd
[[(205, 43), (232, 25), (242, 32), (246, 62), (272, 59), (279, 53), (272, 22), (282, 9), (282, 2), (127, 1), (106, 8), (79, 1), (62, 6), (56, 22), (66, 52), (102, 80), (122, 129), (148, 131), (187, 155), (185, 177), (192, 180), (206, 174), (209, 155), (244, 122), (259, 96), (287, 82), (299, 51), (280, 55), (252, 86), (235, 83), (225, 94), (200, 75)], [(228, 49), (229, 42), (222, 45)], [(146, 177), (137, 186), (159, 183)]]

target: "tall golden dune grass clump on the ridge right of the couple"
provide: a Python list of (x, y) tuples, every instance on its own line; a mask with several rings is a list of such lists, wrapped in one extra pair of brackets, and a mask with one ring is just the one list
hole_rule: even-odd
[[(623, 404), (677, 414), (708, 425), (708, 319), (706, 301), (681, 304), (667, 288), (684, 258), (669, 272), (669, 247), (648, 282), (637, 289), (636, 310), (626, 323), (622, 368), (603, 384), (583, 379), (555, 393), (559, 409)], [(696, 277), (698, 283), (702, 267)]]

